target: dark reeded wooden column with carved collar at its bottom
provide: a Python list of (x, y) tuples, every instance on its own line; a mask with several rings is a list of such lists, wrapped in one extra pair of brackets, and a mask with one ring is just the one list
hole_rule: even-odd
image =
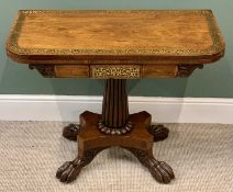
[(104, 134), (123, 135), (132, 127), (129, 122), (126, 79), (107, 79), (99, 129)]

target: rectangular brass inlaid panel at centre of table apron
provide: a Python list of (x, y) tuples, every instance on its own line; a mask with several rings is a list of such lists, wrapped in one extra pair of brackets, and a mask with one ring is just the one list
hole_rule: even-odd
[(136, 79), (141, 78), (141, 66), (90, 66), (90, 77), (97, 79)]

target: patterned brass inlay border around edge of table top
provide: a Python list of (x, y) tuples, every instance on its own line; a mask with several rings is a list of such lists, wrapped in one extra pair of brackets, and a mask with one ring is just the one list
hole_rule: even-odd
[[(148, 10), (149, 11), (149, 10)], [(163, 10), (159, 10), (163, 11)], [(167, 55), (167, 54), (213, 54), (221, 52), (224, 47), (224, 41), (221, 36), (220, 30), (217, 26), (217, 22), (213, 18), (213, 14), (209, 10), (164, 10), (167, 13), (196, 13), (196, 14), (203, 14), (207, 19), (211, 37), (213, 41), (213, 45), (207, 49), (46, 49), (46, 48), (21, 48), (18, 46), (18, 34), (23, 23), (23, 20), (26, 15), (31, 14), (52, 14), (52, 15), (60, 15), (60, 14), (70, 14), (70, 13), (121, 13), (121, 12), (130, 12), (140, 14), (146, 11), (143, 10), (135, 10), (135, 11), (120, 11), (120, 10), (96, 10), (96, 11), (88, 11), (88, 10), (22, 10), (19, 12), (18, 20), (15, 20), (14, 26), (11, 30), (10, 37), (8, 38), (8, 49), (14, 54), (19, 55)], [(104, 16), (102, 14), (102, 16)], [(101, 16), (101, 15), (100, 15)]]

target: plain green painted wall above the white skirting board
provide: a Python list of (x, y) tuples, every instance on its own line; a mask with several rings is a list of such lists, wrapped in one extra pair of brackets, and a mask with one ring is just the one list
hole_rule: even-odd
[(188, 79), (130, 80), (131, 95), (233, 98), (232, 0), (1, 0), (0, 94), (102, 94), (103, 80), (45, 79), (5, 56), (4, 43), (20, 9), (212, 9), (226, 42), (225, 57)]

